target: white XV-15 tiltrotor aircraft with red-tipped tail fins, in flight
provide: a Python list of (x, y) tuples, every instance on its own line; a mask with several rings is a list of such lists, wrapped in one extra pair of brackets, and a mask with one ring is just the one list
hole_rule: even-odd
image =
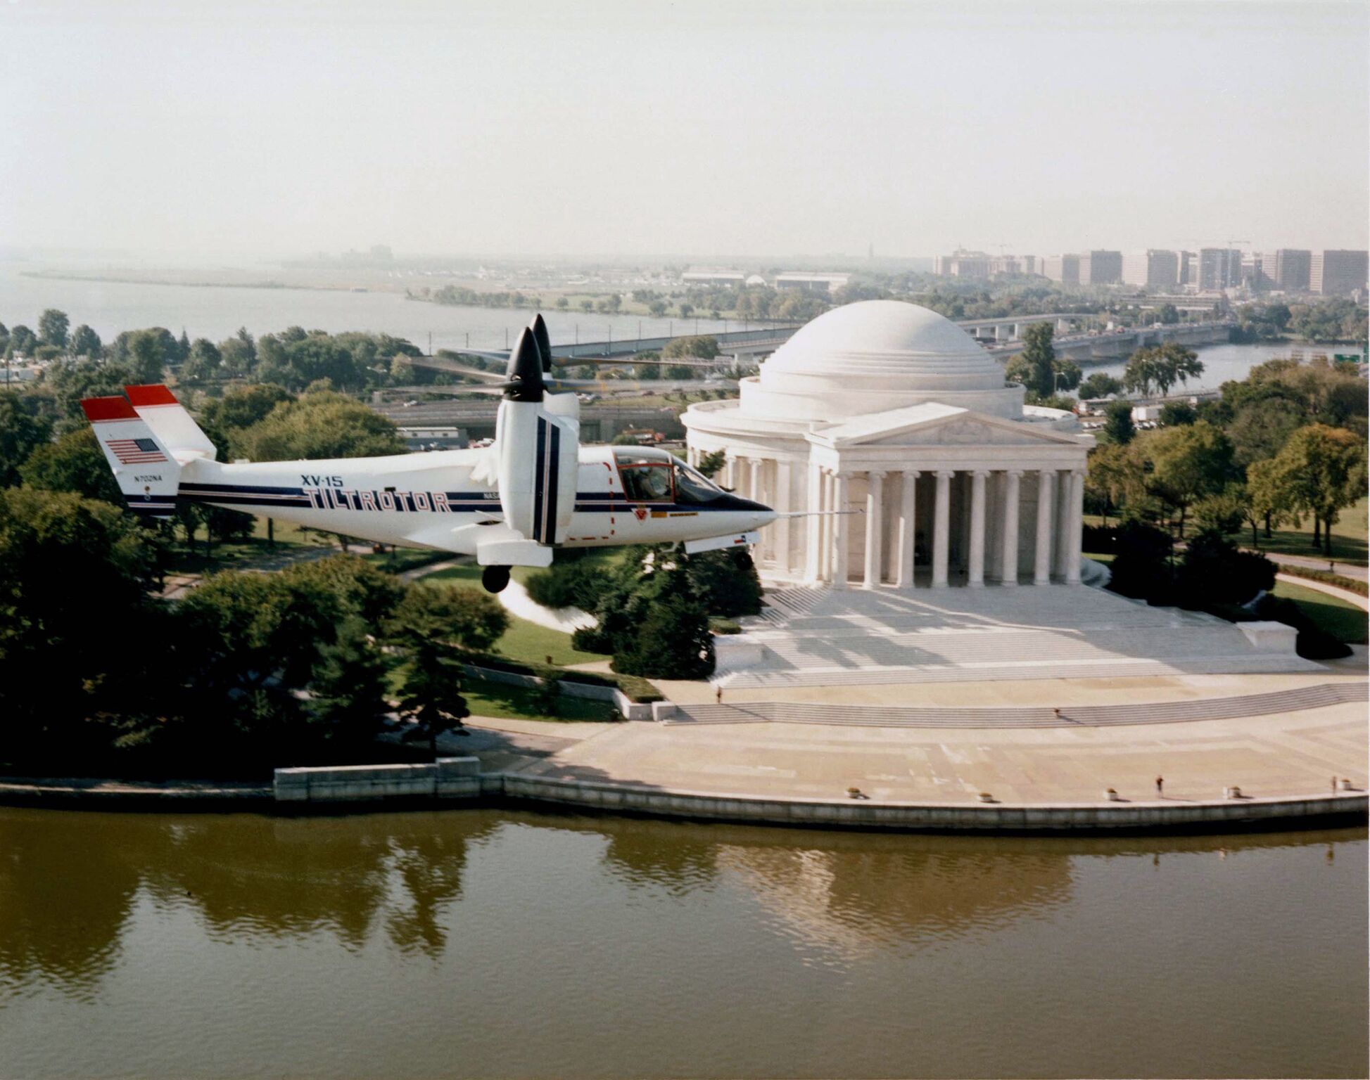
[(207, 504), (377, 543), (475, 556), (500, 591), (510, 567), (556, 548), (755, 543), (769, 506), (725, 491), (655, 448), (581, 446), (580, 401), (547, 393), (552, 350), (538, 315), (508, 359), (486, 449), (310, 461), (215, 461), (208, 437), (166, 386), (81, 402), (129, 509), (167, 517)]

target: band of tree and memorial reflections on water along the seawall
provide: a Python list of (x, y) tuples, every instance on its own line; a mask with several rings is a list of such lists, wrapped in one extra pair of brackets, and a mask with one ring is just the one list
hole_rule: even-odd
[[(755, 905), (804, 949), (843, 958), (992, 935), (1073, 899), (1084, 856), (1226, 858), (1326, 847), (1365, 830), (1215, 838), (1014, 839), (799, 832), (727, 825), (510, 814), (493, 810), (273, 819), (0, 810), (0, 988), (52, 986), (90, 998), (119, 962), (134, 906), (189, 912), (215, 942), (322, 935), (360, 951), (449, 949), (473, 850), (482, 882), (518, 888), (501, 831), (601, 840), (608, 883), (674, 903), (722, 890)], [(507, 862), (507, 860), (506, 860)], [(614, 905), (612, 887), (595, 899)], [(3, 1001), (3, 997), (0, 997)]]

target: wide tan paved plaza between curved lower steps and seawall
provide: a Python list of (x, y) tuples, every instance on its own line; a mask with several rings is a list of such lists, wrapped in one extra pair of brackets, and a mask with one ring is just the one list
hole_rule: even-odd
[(763, 798), (969, 805), (1319, 797), (1333, 776), (1366, 786), (1366, 706), (1184, 724), (1070, 728), (888, 728), (633, 721), (519, 769), (533, 776)]

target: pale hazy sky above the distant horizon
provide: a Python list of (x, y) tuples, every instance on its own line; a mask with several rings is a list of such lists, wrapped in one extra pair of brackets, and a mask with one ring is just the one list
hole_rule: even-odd
[(1365, 3), (0, 0), (0, 245), (1367, 246)]

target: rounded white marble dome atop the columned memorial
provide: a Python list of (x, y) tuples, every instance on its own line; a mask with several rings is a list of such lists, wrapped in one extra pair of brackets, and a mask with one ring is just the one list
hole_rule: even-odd
[(744, 412), (832, 420), (938, 401), (1022, 417), (1021, 386), (974, 338), (897, 300), (834, 308), (800, 329), (741, 387)]

